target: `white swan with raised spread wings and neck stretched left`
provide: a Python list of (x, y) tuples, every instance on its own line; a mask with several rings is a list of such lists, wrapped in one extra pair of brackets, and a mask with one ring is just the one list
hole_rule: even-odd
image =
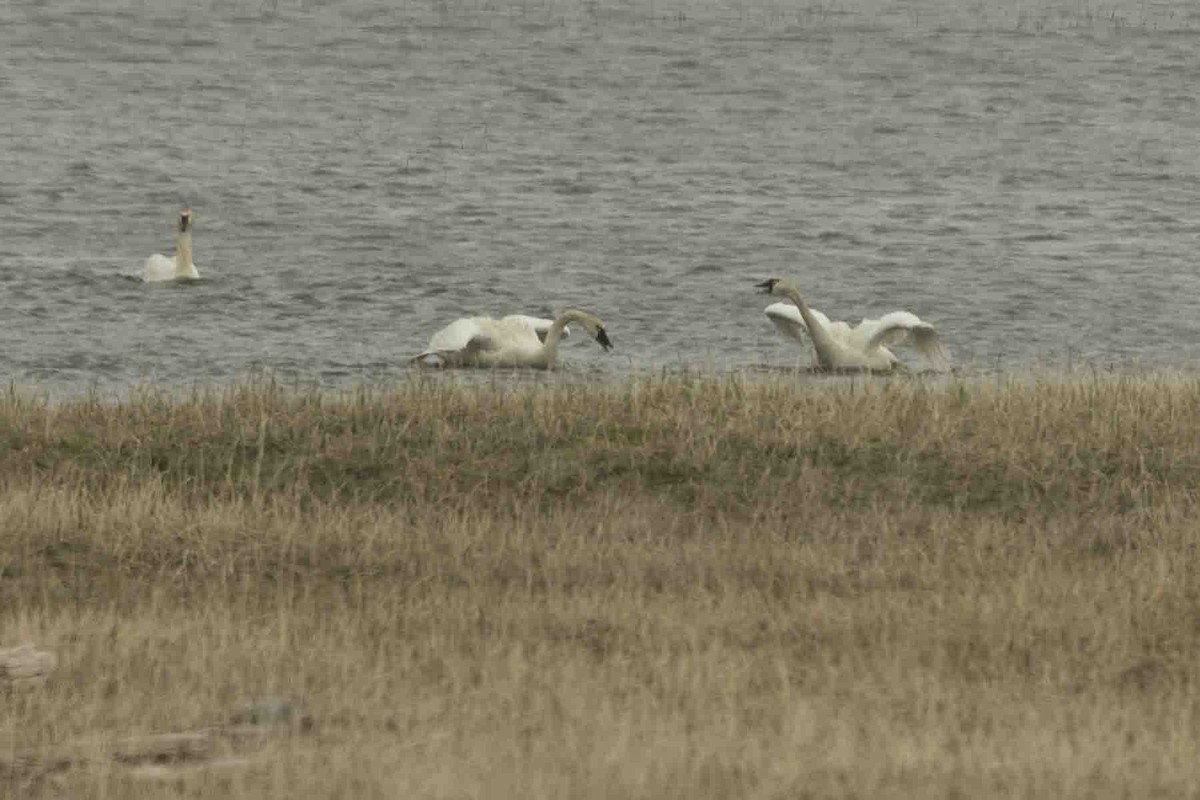
[(935, 369), (949, 368), (950, 356), (937, 331), (907, 311), (894, 311), (880, 319), (864, 319), (851, 327), (842, 321), (830, 321), (820, 311), (809, 308), (799, 290), (786, 281), (770, 278), (757, 288), (791, 300), (767, 306), (767, 318), (785, 336), (797, 341), (804, 341), (808, 333), (817, 365), (823, 369), (893, 369), (900, 360), (888, 347), (910, 337)]

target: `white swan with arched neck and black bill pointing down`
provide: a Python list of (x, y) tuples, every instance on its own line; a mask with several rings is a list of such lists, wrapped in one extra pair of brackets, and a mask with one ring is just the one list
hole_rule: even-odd
[(568, 308), (539, 332), (547, 320), (524, 314), (502, 319), (468, 317), (457, 319), (430, 338), (424, 353), (413, 356), (412, 363), (430, 367), (534, 367), (547, 369), (558, 357), (558, 343), (566, 326), (577, 323), (605, 350), (612, 342), (604, 323), (594, 314)]

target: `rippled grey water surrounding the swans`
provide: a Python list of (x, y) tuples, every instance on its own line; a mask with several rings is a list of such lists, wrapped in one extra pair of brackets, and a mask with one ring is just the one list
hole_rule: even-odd
[[(805, 362), (773, 276), (967, 371), (1188, 367), (1198, 88), (1190, 0), (8, 0), (0, 377), (402, 379), (568, 305), (586, 373)], [(184, 205), (204, 279), (124, 278)]]

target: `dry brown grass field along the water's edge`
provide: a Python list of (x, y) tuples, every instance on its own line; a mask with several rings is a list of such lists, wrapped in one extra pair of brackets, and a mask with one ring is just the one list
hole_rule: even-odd
[[(59, 656), (0, 794), (1200, 792), (1187, 379), (11, 396), (0, 453)], [(113, 758), (270, 696), (314, 727)]]

